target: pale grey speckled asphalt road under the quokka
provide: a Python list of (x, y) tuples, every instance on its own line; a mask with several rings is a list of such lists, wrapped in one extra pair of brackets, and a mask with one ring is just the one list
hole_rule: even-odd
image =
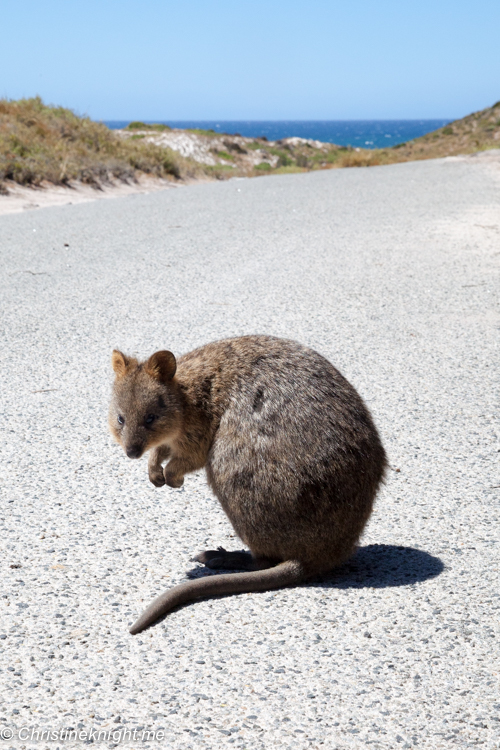
[[(0, 245), (3, 747), (498, 748), (500, 171), (197, 184), (3, 216)], [(241, 544), (202, 473), (156, 489), (112, 442), (111, 350), (256, 332), (372, 410), (391, 470), (360, 550), (132, 637)]]

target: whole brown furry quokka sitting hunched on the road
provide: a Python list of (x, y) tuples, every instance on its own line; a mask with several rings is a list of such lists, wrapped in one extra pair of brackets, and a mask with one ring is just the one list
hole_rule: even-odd
[(112, 363), (110, 427), (127, 455), (151, 450), (149, 478), (157, 487), (180, 487), (185, 474), (205, 467), (251, 551), (199, 555), (208, 567), (248, 572), (177, 586), (131, 632), (200, 596), (290, 585), (352, 554), (386, 458), (363, 401), (320, 354), (293, 341), (244, 336), (177, 362), (171, 352), (139, 364), (115, 351)]

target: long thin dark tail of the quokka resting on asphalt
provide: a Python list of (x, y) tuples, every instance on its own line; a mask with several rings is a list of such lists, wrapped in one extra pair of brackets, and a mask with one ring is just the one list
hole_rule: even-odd
[(139, 619), (130, 628), (135, 635), (153, 625), (160, 617), (174, 607), (186, 604), (205, 596), (222, 596), (223, 594), (240, 594), (249, 591), (270, 591), (300, 583), (305, 578), (304, 566), (297, 560), (287, 560), (266, 570), (254, 570), (245, 573), (225, 573), (223, 575), (198, 578), (175, 586), (154, 600), (144, 610)]

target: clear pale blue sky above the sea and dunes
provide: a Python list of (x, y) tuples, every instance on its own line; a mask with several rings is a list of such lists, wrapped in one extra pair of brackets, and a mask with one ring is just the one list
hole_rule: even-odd
[(499, 0), (0, 9), (0, 96), (95, 119), (454, 119), (500, 99)]

